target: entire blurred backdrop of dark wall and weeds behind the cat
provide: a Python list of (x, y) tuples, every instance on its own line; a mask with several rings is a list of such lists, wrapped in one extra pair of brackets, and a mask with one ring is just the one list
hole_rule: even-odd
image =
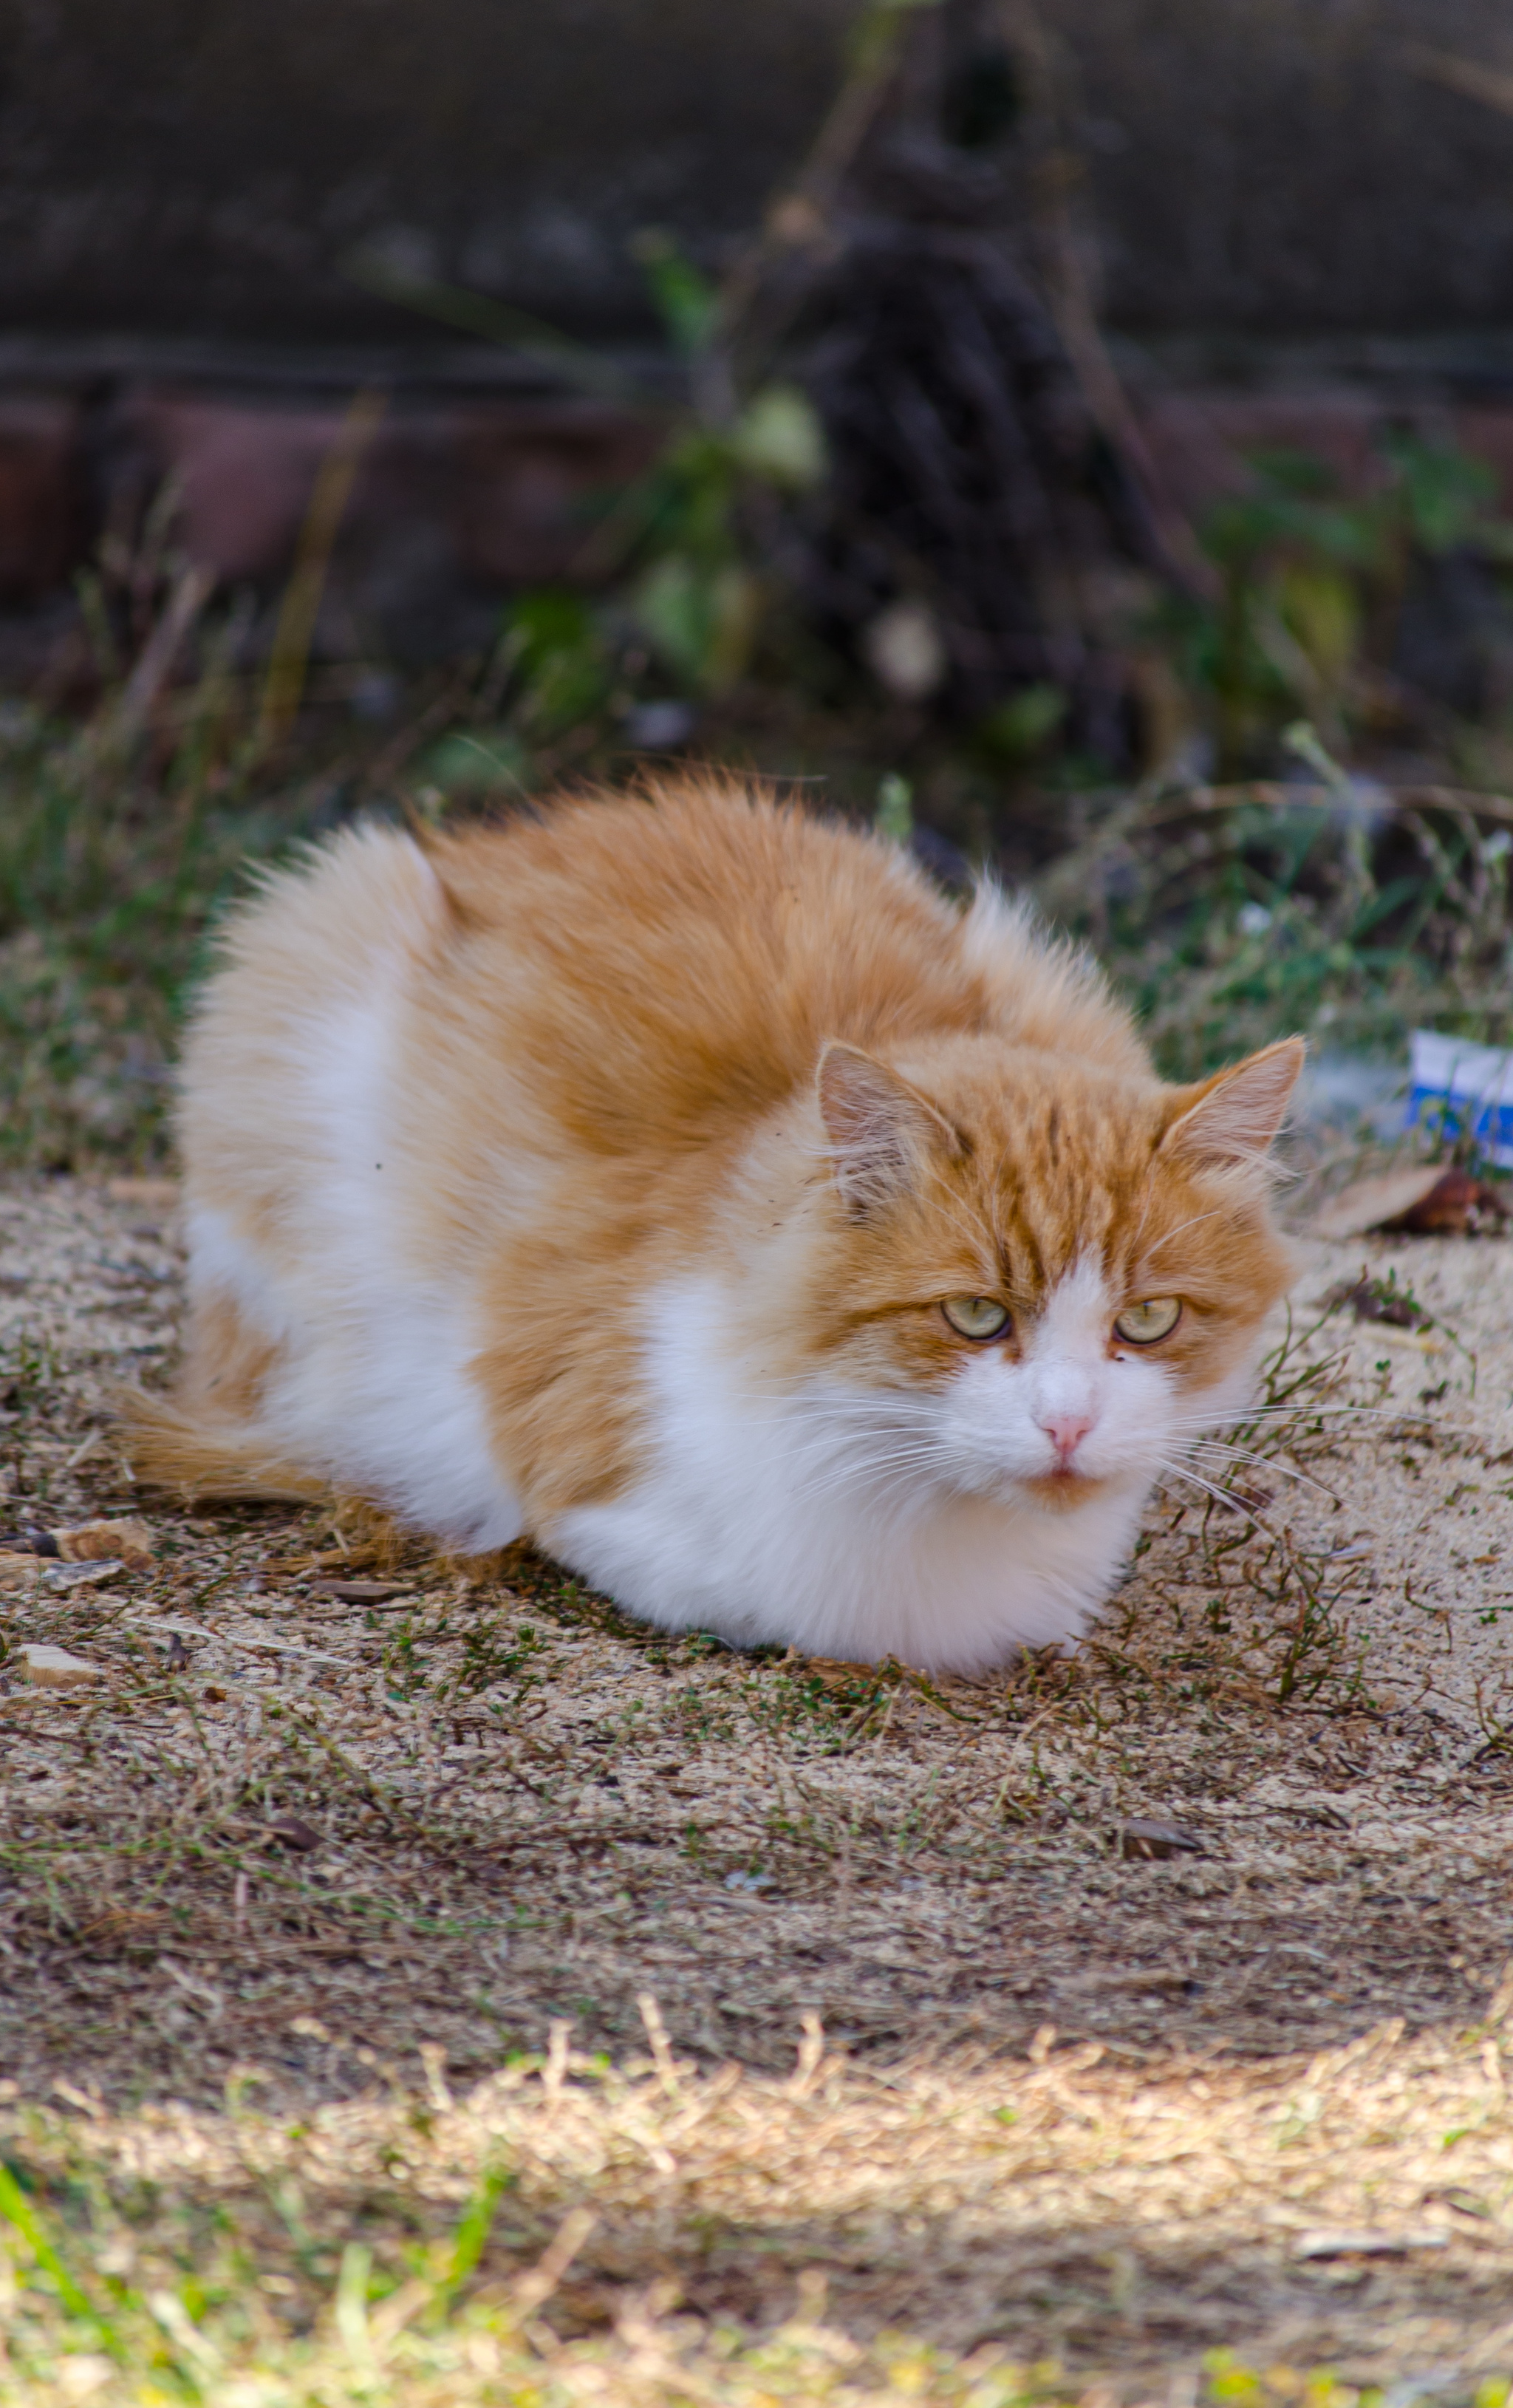
[(1171, 1074), (1513, 1035), (1494, 0), (14, 0), (0, 1144), (154, 1161), (243, 862), (720, 761)]

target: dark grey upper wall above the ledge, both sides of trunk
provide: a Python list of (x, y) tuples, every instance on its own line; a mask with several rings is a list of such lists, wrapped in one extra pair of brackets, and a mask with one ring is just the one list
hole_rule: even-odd
[[(1038, 0), (1079, 65), (1111, 315), (1513, 320), (1506, 0)], [(402, 340), (354, 243), (600, 337), (646, 224), (749, 226), (855, 0), (0, 0), (0, 327)]]

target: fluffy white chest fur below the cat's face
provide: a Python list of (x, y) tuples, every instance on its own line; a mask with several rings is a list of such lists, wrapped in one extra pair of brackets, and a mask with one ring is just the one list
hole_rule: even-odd
[(650, 1315), (655, 1471), (578, 1507), (547, 1544), (634, 1613), (737, 1645), (971, 1671), (1014, 1647), (1075, 1642), (1135, 1539), (1147, 1476), (1075, 1512), (964, 1495), (930, 1476), (903, 1409), (776, 1397), (732, 1356), (716, 1283)]

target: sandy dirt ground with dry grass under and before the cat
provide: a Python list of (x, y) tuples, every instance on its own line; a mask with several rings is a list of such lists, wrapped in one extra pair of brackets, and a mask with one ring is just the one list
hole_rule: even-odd
[[(171, 1192), (17, 1180), (0, 1243), (5, 1527), (154, 1539), (0, 1594), (0, 2126), (282, 2153), (337, 2223), (395, 2133), (424, 2223), (508, 2129), (501, 2249), (602, 2215), (583, 2316), (824, 2271), (846, 2331), (1120, 2391), (1513, 2369), (1511, 1243), (1313, 1247), (1229, 1500), (981, 1683), (142, 1498), (106, 1385), (171, 1358)], [(1325, 1310), (1364, 1267), (1431, 1322)]]

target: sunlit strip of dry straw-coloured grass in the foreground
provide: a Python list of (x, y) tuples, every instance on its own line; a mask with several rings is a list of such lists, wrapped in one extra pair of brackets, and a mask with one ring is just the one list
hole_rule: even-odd
[[(561, 2032), (458, 2100), (431, 2056), (301, 2126), (246, 2073), (219, 2112), (80, 2090), (17, 2131), (55, 2232), (89, 2232), (72, 2341), (106, 2396), (145, 2336), (239, 2403), (1007, 2408), (1087, 2394), (1058, 2360), (1140, 2396), (1236, 2338), (1260, 2396), (1296, 2398), (1289, 2369), (1320, 2360), (1465, 2396), (1513, 2350), (1506, 2008), (1265, 2068), (1142, 2071), (1043, 2035), (1029, 2061), (906, 2078), (817, 2032), (788, 2078), (708, 2078), (653, 2015), (624, 2068)], [(55, 2329), (12, 2300), (22, 2367)]]

